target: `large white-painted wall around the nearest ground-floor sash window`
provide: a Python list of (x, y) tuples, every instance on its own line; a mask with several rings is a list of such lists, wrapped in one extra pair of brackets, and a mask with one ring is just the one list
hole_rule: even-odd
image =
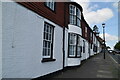
[[(3, 3), (3, 78), (35, 78), (62, 69), (63, 28), (17, 3)], [(41, 63), (44, 21), (55, 26), (53, 57)]]

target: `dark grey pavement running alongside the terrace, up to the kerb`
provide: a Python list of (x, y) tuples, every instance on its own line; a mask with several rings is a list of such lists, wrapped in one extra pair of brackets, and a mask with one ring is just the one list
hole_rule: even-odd
[(107, 80), (120, 80), (120, 66), (114, 61), (110, 54), (106, 53), (103, 59), (103, 53), (99, 53), (82, 61), (80, 66), (67, 67), (61, 71), (57, 71), (41, 78), (101, 78)]

